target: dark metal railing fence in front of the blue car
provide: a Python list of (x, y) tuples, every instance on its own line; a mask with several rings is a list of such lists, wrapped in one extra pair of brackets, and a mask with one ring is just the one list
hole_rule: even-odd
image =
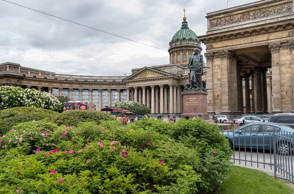
[(293, 132), (274, 127), (251, 127), (244, 131), (221, 129), (221, 133), (234, 151), (232, 163), (273, 173), (275, 178), (294, 182)]

